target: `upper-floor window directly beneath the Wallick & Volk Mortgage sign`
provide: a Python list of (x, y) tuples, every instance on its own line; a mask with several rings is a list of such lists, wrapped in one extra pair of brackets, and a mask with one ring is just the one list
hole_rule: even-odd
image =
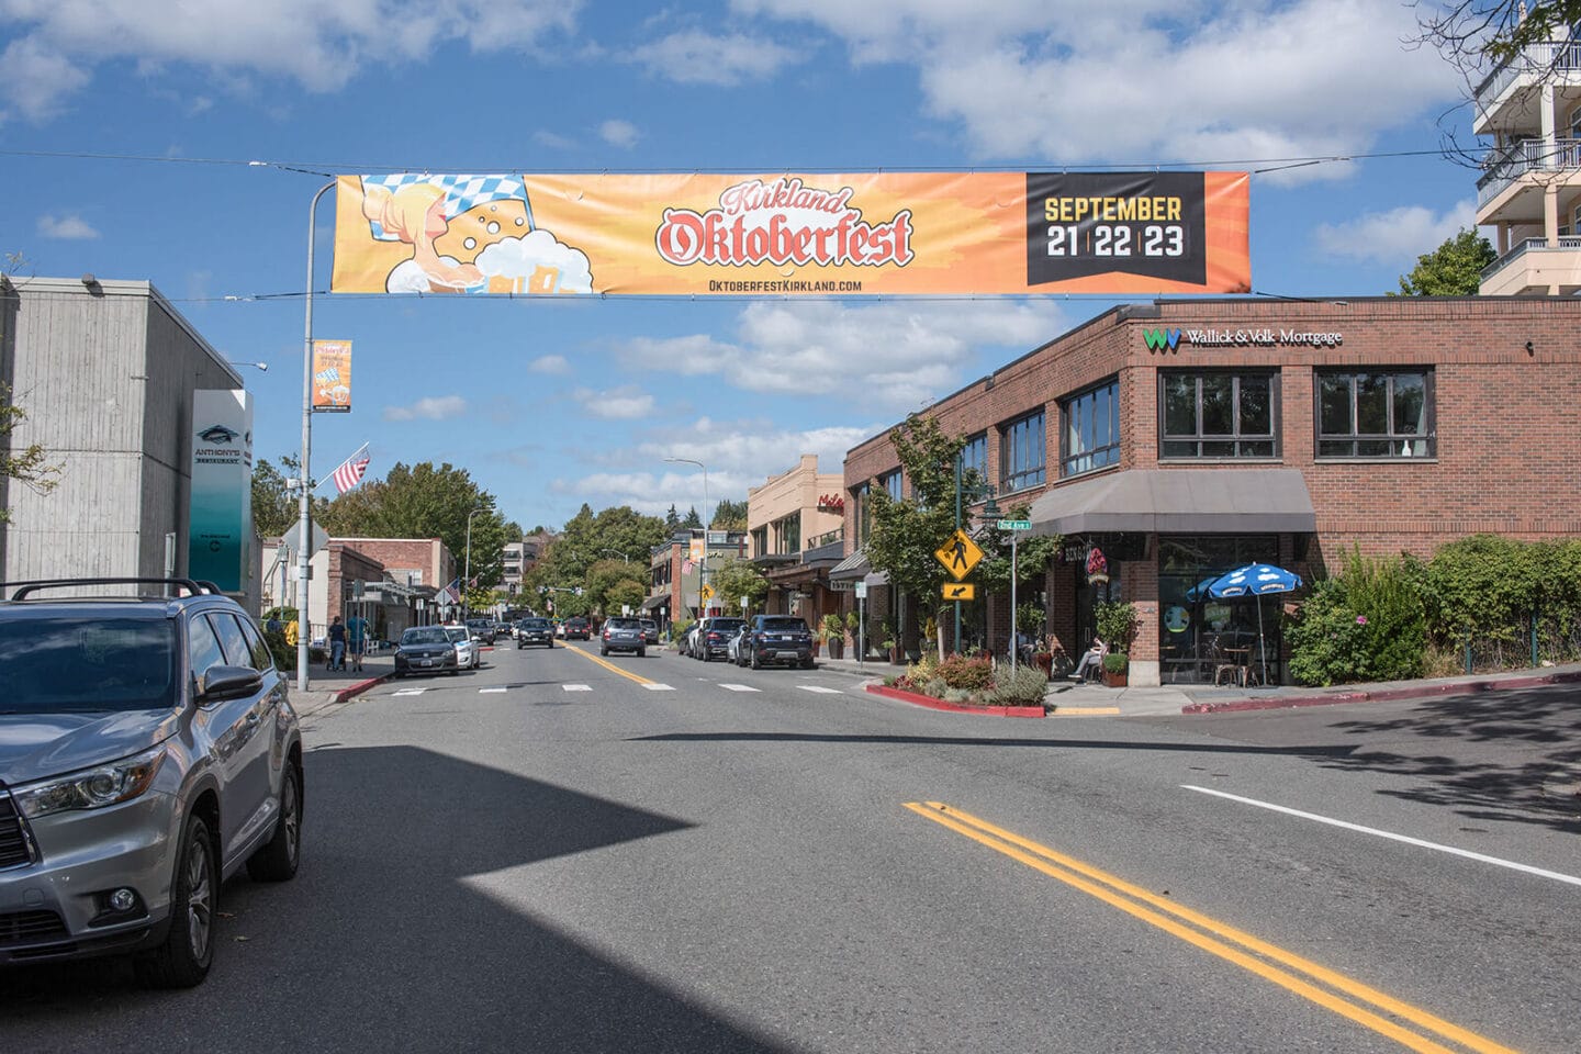
[(1277, 373), (1159, 373), (1160, 458), (1279, 457)]

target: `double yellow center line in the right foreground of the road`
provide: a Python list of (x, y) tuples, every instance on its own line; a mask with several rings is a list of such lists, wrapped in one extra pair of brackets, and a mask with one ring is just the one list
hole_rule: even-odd
[[(1478, 1054), (1515, 1054), (1507, 1046), (1500, 1046), (1475, 1032), (1436, 1018), (1418, 1007), (1385, 996), (1328, 967), (1303, 959), (1298, 954), (1258, 940), (1251, 934), (1208, 918), (1200, 912), (1181, 907), (1154, 893), (1148, 893), (1123, 879), (1116, 879), (1091, 864), (994, 826), (969, 812), (961, 812), (939, 801), (907, 801), (906, 807), (958, 834), (982, 842), (988, 849), (1004, 853), (1028, 868), (1096, 896), (1127, 915), (1197, 945), (1203, 951), (1209, 951), (1221, 959), (1251, 970), (1296, 996), (1333, 1010), (1380, 1035), (1387, 1035), (1412, 1051), (1421, 1051), (1423, 1054), (1456, 1054), (1459, 1049), (1477, 1051)], [(1420, 1032), (1399, 1024), (1402, 1021), (1415, 1026)], [(1456, 1046), (1443, 1046), (1439, 1040)]]

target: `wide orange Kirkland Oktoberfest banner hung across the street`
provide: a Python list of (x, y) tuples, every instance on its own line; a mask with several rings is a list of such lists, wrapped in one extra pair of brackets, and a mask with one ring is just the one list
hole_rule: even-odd
[(341, 175), (332, 292), (1249, 292), (1246, 172)]

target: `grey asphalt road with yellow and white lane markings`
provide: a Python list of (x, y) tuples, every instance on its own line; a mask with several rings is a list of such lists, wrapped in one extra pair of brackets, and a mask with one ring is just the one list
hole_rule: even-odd
[(304, 869), (225, 888), (207, 984), (0, 975), (0, 1051), (1573, 1052), (1581, 705), (1523, 700), (1012, 721), (503, 648), (307, 722)]

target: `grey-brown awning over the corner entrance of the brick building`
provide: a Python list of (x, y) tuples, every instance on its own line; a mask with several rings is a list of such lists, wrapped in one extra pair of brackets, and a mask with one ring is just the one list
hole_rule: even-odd
[(1032, 534), (1309, 534), (1317, 512), (1293, 468), (1129, 469), (1045, 491)]

